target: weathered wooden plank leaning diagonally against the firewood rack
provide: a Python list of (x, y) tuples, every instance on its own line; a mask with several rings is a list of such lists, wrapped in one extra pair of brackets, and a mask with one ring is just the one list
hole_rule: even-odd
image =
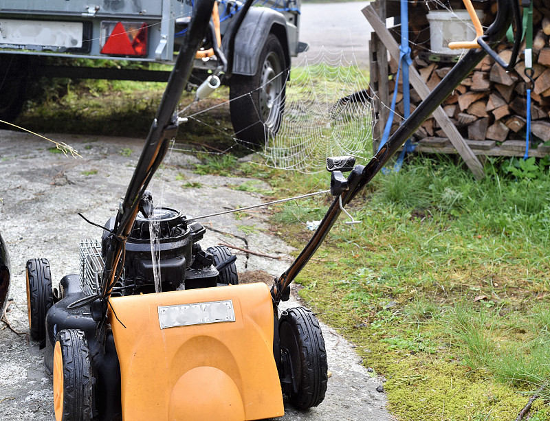
[[(376, 32), (377, 36), (388, 49), (390, 55), (395, 60), (399, 60), (399, 46), (395, 42), (392, 34), (388, 31), (388, 28), (386, 28), (385, 23), (382, 22), (376, 14), (374, 8), (371, 5), (367, 5), (362, 10), (362, 12), (366, 17), (366, 20), (369, 21), (369, 23), (373, 27), (374, 32)], [(415, 69), (414, 67), (410, 67), (409, 77), (410, 84), (412, 84), (412, 87), (415, 88), (420, 97), (422, 99), (426, 98), (430, 94), (430, 89), (422, 81), (417, 69)], [(474, 173), (476, 179), (482, 179), (483, 177), (485, 177), (483, 166), (478, 161), (476, 155), (474, 155), (474, 152), (472, 152), (472, 149), (467, 146), (463, 137), (459, 133), (459, 130), (456, 128), (456, 126), (454, 126), (454, 124), (452, 124), (450, 118), (447, 114), (445, 114), (445, 111), (443, 111), (441, 106), (439, 106), (434, 111), (433, 116), (435, 117), (435, 120), (437, 120), (437, 122), (439, 123), (439, 126), (441, 126), (441, 128), (445, 132), (445, 135), (447, 135), (447, 137), (451, 141), (452, 146), (454, 146), (456, 151), (459, 152), (459, 155), (462, 157), (462, 159), (464, 159), (468, 168), (470, 168), (470, 170)]]

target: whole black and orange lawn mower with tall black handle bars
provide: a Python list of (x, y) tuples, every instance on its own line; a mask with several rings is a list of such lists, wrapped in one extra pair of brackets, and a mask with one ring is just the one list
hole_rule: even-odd
[[(58, 421), (259, 420), (283, 415), (283, 394), (298, 409), (319, 405), (327, 390), (325, 343), (310, 310), (279, 309), (289, 285), (344, 206), (483, 56), (494, 54), (490, 46), (505, 35), (512, 11), (516, 33), (521, 27), (517, 1), (498, 0), (495, 23), (475, 43), (485, 47), (470, 50), (366, 166), (353, 157), (327, 159), (333, 203), (298, 258), (268, 288), (239, 284), (230, 251), (203, 249), (203, 225), (155, 207), (146, 190), (175, 136), (174, 111), (195, 52), (212, 46), (220, 74), (231, 75), (232, 60), (225, 60), (209, 26), (213, 3), (195, 0), (186, 42), (126, 195), (117, 214), (99, 226), (101, 240), (81, 242), (80, 273), (66, 275), (54, 289), (47, 260), (27, 263), (30, 334), (45, 348)], [(153, 235), (158, 262), (151, 255)]]

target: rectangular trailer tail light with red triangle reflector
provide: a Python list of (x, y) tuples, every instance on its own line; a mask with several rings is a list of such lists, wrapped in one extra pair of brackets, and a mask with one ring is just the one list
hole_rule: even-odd
[(145, 22), (101, 23), (101, 54), (111, 56), (146, 56), (147, 24)]

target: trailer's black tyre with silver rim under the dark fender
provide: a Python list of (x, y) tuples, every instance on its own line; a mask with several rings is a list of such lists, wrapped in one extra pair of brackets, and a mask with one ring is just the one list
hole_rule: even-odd
[(285, 110), (288, 70), (281, 42), (267, 36), (254, 76), (233, 75), (230, 112), (235, 137), (256, 145), (277, 134)]

